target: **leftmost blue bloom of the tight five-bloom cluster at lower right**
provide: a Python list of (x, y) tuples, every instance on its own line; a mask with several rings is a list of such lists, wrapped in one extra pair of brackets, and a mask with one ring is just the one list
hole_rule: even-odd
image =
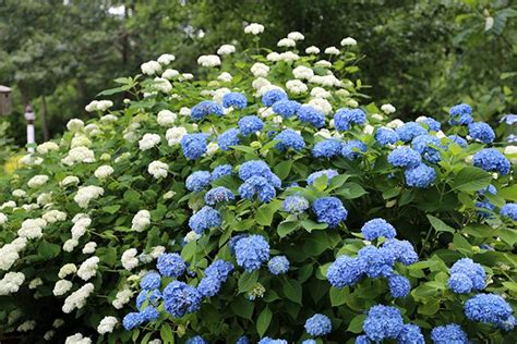
[(353, 285), (361, 280), (364, 268), (364, 262), (360, 259), (339, 256), (328, 267), (327, 280), (336, 288)]

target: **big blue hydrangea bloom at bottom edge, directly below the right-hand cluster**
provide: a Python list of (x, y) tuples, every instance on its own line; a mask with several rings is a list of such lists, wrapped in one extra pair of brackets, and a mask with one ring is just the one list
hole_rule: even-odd
[(362, 325), (364, 333), (372, 341), (396, 339), (404, 327), (400, 310), (395, 307), (376, 305), (370, 308)]

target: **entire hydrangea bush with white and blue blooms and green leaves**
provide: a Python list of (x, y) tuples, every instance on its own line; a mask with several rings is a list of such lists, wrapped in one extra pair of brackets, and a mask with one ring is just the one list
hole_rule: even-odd
[[(515, 343), (513, 146), (468, 105), (404, 123), (357, 42), (225, 45), (116, 79), (0, 199), (1, 339)], [(304, 51), (304, 52), (303, 52)], [(98, 116), (98, 118), (96, 118)]]

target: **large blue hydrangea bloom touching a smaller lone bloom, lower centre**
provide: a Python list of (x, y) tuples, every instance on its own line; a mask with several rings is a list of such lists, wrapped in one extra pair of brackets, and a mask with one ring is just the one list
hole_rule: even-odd
[(269, 259), (269, 244), (262, 235), (250, 235), (236, 244), (237, 263), (245, 271), (254, 271)]

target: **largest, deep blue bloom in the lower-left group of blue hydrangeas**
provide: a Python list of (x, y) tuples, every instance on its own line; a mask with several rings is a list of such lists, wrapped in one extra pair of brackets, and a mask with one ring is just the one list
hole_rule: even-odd
[(172, 281), (164, 290), (165, 309), (175, 318), (200, 309), (201, 294), (197, 290), (180, 281)]

